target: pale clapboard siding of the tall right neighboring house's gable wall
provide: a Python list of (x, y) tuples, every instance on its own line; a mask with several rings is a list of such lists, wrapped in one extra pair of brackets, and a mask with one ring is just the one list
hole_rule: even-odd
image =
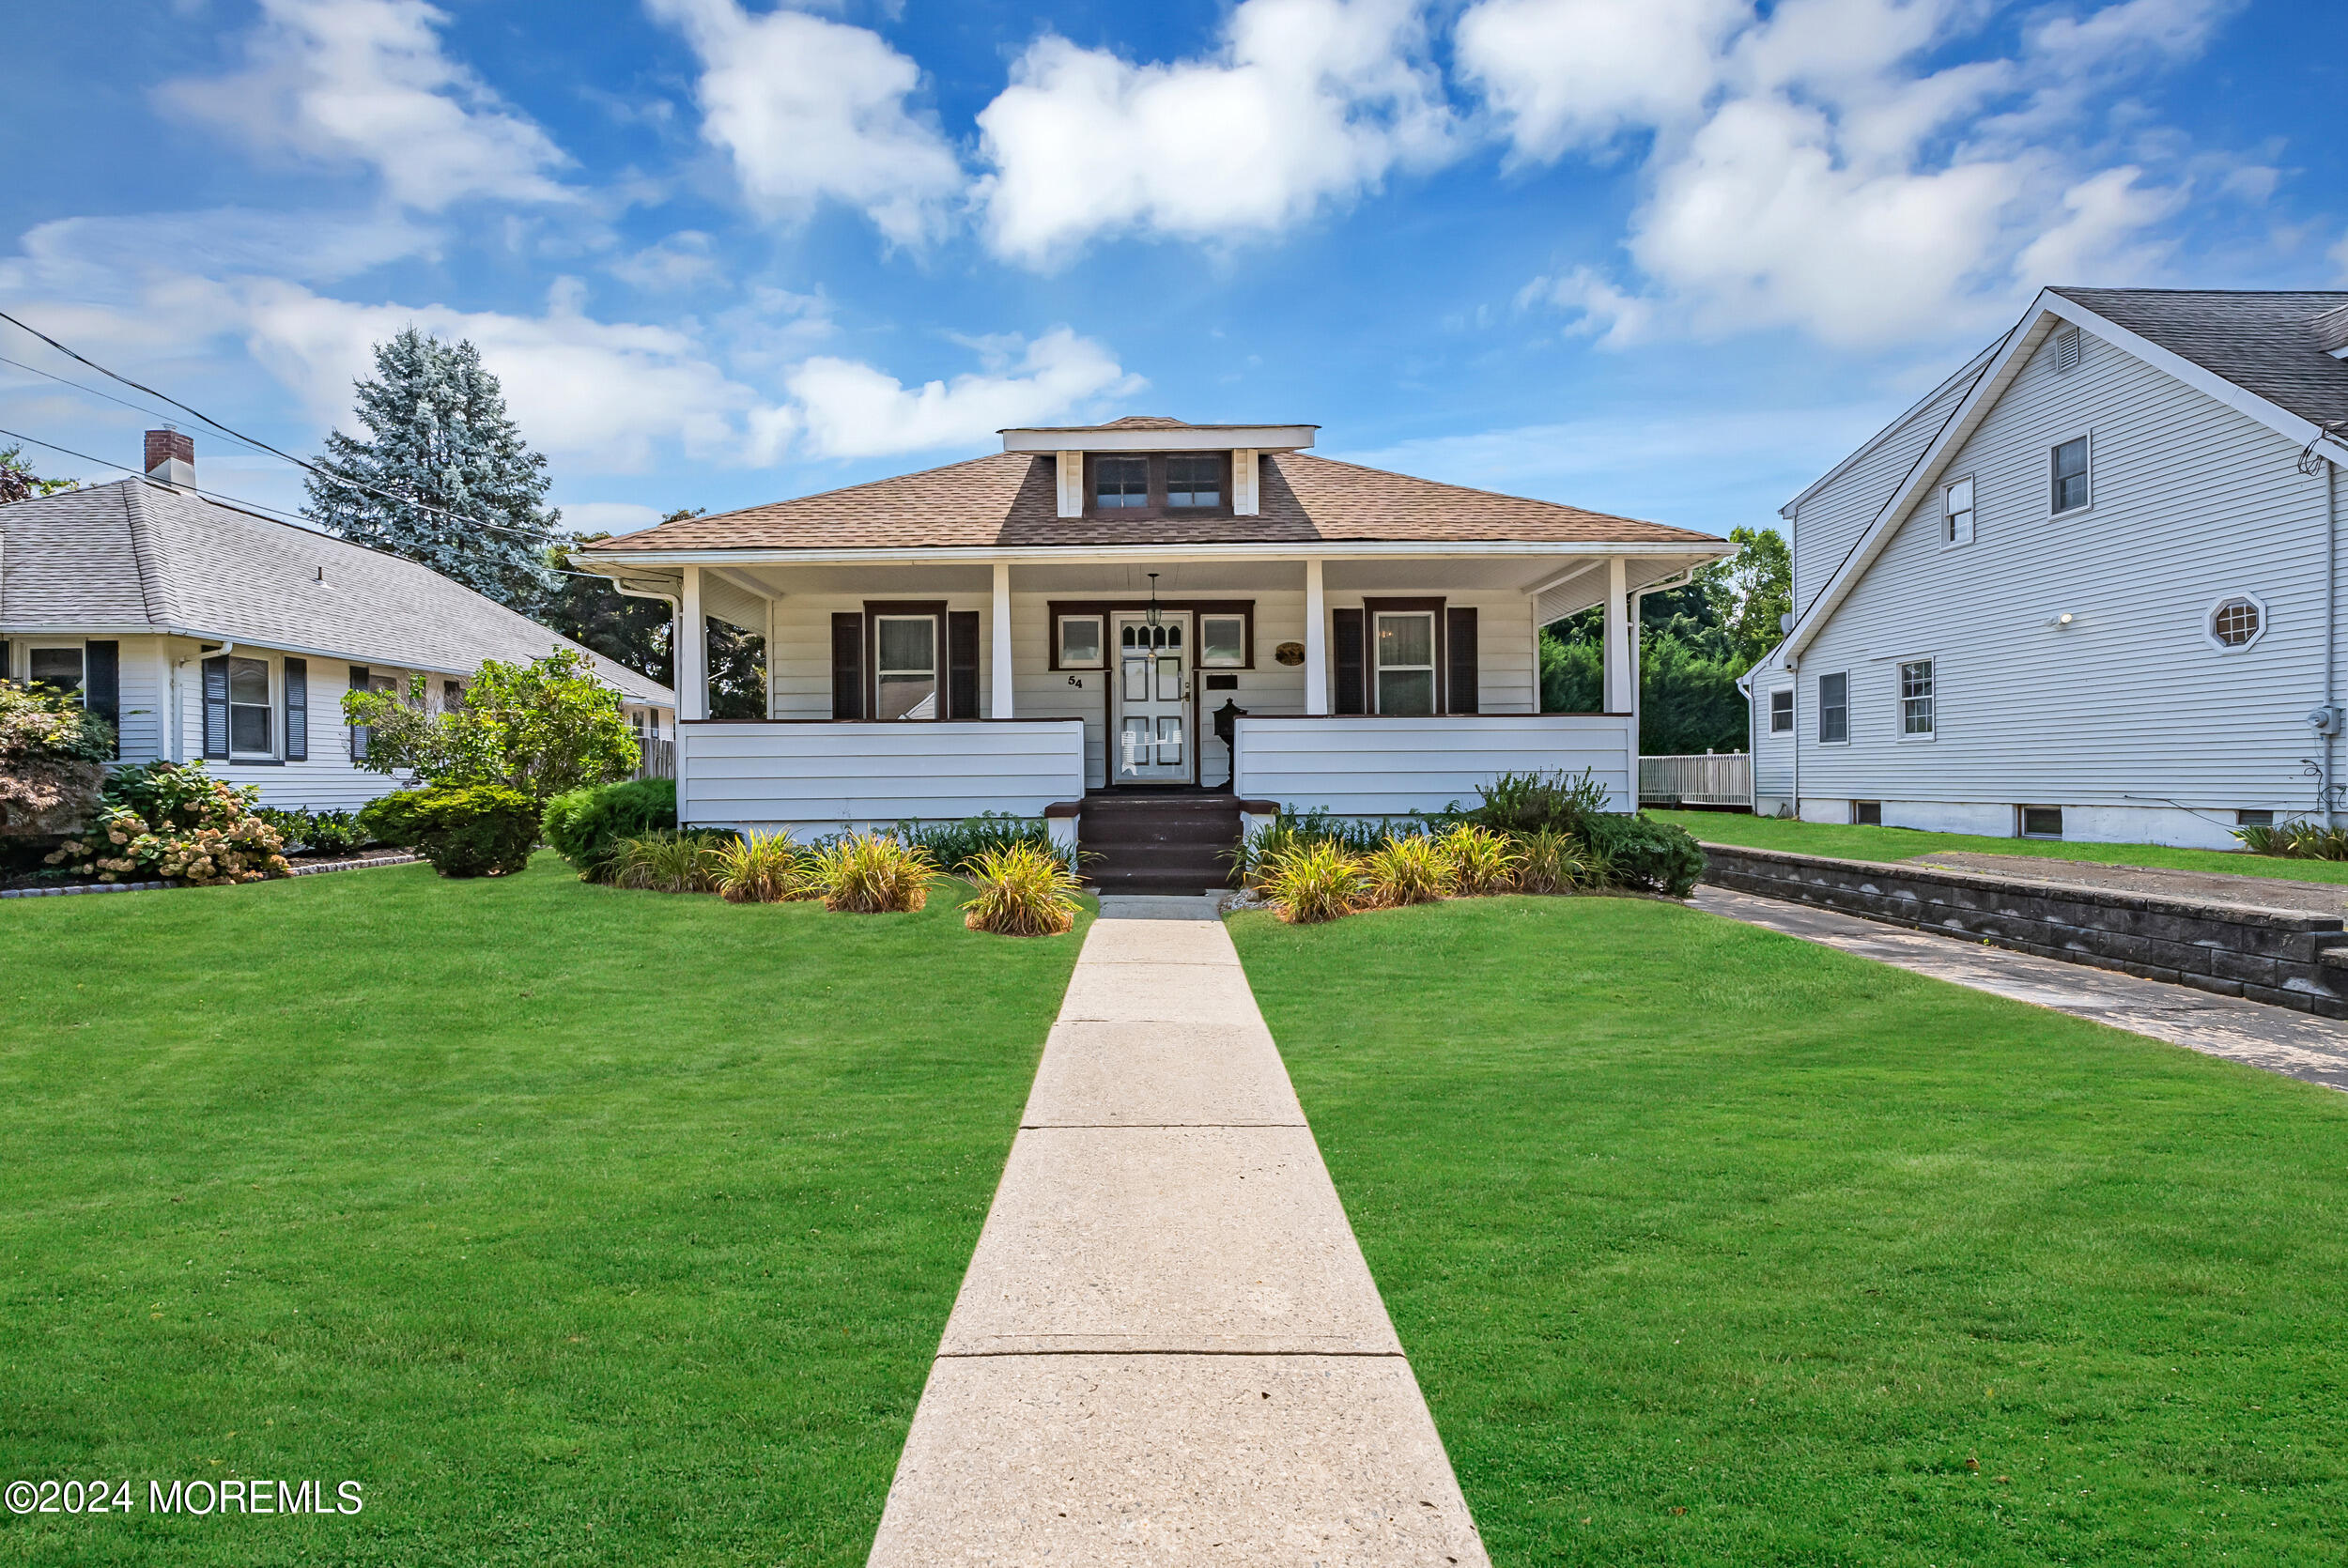
[[(2094, 441), (2092, 507), (2050, 519), (2047, 453), (2076, 434)], [(1975, 540), (1942, 540), (1935, 486), (1803, 650), (1803, 800), (1883, 800), (1885, 822), (1918, 824), (1946, 817), (1935, 803), (2008, 824), (2024, 803), (2109, 807), (2099, 831), (2120, 836), (2141, 836), (2127, 812), (2144, 833), (2209, 812), (2217, 838), (2242, 807), (2310, 810), (2327, 519), (2325, 479), (2296, 455), (2092, 333), (2066, 373), (2043, 347), (1944, 469), (1975, 481)], [(2266, 603), (2247, 650), (2205, 636), (2226, 594)], [(1897, 669), (1921, 657), (1930, 739), (1900, 730)], [(1817, 678), (1838, 671), (1850, 742), (1820, 744)], [(1768, 683), (1754, 678), (1763, 725)]]

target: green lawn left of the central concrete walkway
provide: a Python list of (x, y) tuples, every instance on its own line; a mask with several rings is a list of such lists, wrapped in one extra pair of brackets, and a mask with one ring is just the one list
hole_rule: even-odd
[(1075, 939), (423, 866), (0, 904), (0, 1563), (862, 1563)]

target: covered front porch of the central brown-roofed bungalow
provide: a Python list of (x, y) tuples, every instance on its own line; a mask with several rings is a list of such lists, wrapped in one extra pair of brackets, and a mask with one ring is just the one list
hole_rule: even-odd
[[(1010, 812), (1073, 840), (1087, 796), (1120, 791), (1402, 817), (1587, 768), (1632, 810), (1637, 596), (1714, 552), (723, 554), (615, 573), (681, 629), (765, 638), (765, 716), (711, 718), (707, 641), (679, 636), (681, 822), (812, 838)], [(1604, 711), (1543, 714), (1538, 631), (1590, 606)]]

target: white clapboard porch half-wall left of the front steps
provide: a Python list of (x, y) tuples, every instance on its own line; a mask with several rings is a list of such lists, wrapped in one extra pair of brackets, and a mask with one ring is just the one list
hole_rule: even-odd
[(686, 723), (676, 812), (693, 826), (798, 833), (979, 812), (1040, 817), (1085, 793), (1085, 728), (1054, 718), (949, 723)]

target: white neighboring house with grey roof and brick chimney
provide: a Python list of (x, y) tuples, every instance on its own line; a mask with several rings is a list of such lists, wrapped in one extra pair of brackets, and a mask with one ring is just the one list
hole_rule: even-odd
[[(146, 479), (0, 507), (0, 674), (77, 690), (124, 763), (204, 758), (263, 805), (392, 789), (352, 765), (345, 690), (444, 702), (552, 648), (585, 653), (413, 561), (202, 500), (183, 432), (148, 432)], [(674, 735), (664, 685), (589, 657), (641, 735)]]

